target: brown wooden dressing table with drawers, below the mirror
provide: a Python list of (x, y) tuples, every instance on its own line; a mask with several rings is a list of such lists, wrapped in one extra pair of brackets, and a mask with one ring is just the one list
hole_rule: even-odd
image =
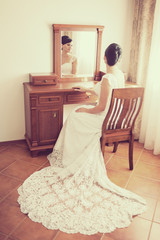
[[(78, 85), (92, 87), (94, 82)], [(56, 86), (33, 86), (24, 83), (25, 139), (32, 156), (39, 151), (52, 149), (63, 125), (64, 104), (95, 104), (93, 95), (72, 89), (76, 82), (58, 83)]]

